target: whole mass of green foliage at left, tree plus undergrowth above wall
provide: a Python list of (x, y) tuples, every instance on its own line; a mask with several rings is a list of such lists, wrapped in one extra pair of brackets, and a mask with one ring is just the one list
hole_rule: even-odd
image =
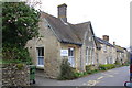
[(40, 13), (24, 2), (2, 3), (2, 53), (4, 59), (29, 61), (25, 44), (38, 35)]

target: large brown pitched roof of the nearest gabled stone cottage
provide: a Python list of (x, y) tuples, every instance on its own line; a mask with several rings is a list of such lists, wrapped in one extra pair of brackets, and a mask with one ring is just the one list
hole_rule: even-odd
[(64, 23), (59, 18), (45, 12), (42, 12), (42, 16), (46, 19), (61, 42), (82, 45), (84, 35), (88, 31), (90, 22), (80, 24)]

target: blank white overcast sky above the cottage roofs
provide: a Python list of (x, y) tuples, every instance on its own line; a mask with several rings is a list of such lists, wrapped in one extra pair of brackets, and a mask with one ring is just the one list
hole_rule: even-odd
[(41, 10), (57, 16), (57, 6), (67, 4), (67, 20), (77, 24), (91, 21), (96, 36), (109, 35), (110, 43), (130, 45), (131, 0), (41, 0)]

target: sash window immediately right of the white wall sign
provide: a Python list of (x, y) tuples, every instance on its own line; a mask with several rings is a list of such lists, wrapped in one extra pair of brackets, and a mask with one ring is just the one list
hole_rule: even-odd
[(70, 63), (72, 67), (75, 67), (75, 57), (74, 57), (74, 48), (69, 47), (68, 48), (68, 62)]

